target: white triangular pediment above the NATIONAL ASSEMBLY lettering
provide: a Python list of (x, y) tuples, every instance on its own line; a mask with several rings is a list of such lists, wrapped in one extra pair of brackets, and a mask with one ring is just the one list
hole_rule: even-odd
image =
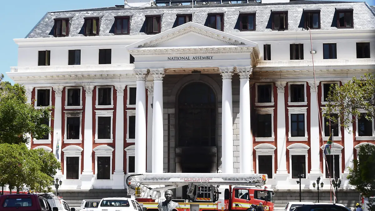
[(150, 36), (128, 45), (127, 50), (141, 48), (191, 48), (191, 47), (257, 47), (256, 42), (189, 22), (168, 31)]

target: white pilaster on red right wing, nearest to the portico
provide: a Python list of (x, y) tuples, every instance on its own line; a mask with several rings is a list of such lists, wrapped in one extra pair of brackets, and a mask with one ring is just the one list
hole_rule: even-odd
[(287, 171), (287, 137), (285, 127), (285, 85), (287, 82), (279, 81), (275, 85), (278, 89), (278, 116), (277, 116), (277, 151), (278, 151), (278, 170), (277, 174), (288, 174)]

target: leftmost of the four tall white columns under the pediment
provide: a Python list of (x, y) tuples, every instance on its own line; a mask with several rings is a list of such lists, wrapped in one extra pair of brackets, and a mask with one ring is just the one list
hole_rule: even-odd
[(135, 173), (146, 172), (146, 77), (147, 69), (134, 69), (137, 78), (135, 100)]

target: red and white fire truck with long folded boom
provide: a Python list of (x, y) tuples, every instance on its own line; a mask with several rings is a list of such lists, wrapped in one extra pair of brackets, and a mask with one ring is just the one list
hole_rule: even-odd
[(174, 211), (249, 211), (260, 202), (265, 211), (273, 211), (274, 192), (266, 181), (265, 174), (243, 173), (144, 173), (126, 178), (127, 194), (144, 211), (159, 211), (163, 191), (185, 185), (187, 198), (172, 199), (179, 204)]

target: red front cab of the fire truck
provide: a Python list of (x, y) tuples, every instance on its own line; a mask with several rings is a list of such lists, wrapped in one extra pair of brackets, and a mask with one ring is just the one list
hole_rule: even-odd
[(231, 208), (232, 210), (247, 210), (252, 204), (259, 205), (262, 202), (265, 211), (273, 211), (273, 196), (272, 189), (235, 186), (231, 191)]

